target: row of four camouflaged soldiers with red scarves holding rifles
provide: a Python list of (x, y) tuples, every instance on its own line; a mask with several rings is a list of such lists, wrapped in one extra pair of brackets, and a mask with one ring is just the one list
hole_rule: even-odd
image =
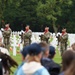
[[(2, 30), (2, 34), (4, 38), (3, 43), (8, 50), (10, 46), (11, 32), (12, 30), (9, 27), (9, 24), (6, 24), (4, 30)], [(21, 36), (21, 43), (23, 43), (24, 46), (31, 44), (32, 30), (30, 29), (29, 25), (25, 27), (25, 31), (22, 32), (20, 36)], [(50, 44), (49, 39), (51, 37), (51, 34), (49, 32), (49, 27), (45, 27), (44, 33), (39, 35), (39, 37), (41, 41), (46, 42), (47, 44)], [(66, 32), (66, 29), (62, 29), (62, 34), (56, 37), (58, 39), (58, 45), (60, 45), (60, 51), (62, 55), (63, 52), (67, 49), (68, 33)]]

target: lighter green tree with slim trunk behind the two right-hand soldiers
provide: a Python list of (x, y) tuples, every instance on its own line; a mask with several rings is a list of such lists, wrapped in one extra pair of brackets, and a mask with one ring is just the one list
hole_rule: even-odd
[(56, 21), (57, 17), (61, 16), (61, 0), (44, 0), (39, 1), (37, 7), (37, 15), (41, 17), (46, 17), (48, 20), (52, 21), (52, 25), (55, 33), (57, 33)]

